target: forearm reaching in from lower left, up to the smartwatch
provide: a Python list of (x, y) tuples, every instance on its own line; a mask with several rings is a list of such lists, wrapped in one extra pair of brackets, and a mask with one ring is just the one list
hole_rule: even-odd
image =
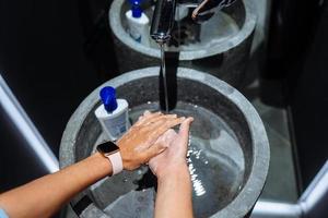
[(15, 218), (50, 217), (77, 193), (110, 173), (108, 159), (96, 153), (61, 171), (0, 195), (0, 207)]

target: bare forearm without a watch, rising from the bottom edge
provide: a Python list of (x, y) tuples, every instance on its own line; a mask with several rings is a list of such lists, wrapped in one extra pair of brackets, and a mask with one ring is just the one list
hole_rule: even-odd
[(155, 218), (191, 218), (191, 181), (187, 167), (159, 177)]

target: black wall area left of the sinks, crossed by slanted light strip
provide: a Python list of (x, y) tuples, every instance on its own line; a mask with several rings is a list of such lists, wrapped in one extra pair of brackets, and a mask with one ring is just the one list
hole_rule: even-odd
[[(1, 75), (56, 156), (74, 109), (115, 76), (109, 3), (0, 0)], [(0, 192), (46, 173), (15, 132), (1, 109)]]

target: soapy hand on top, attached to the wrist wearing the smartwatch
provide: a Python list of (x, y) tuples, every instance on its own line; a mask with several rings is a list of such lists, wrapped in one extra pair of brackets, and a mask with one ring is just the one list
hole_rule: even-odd
[(166, 149), (166, 143), (155, 143), (171, 128), (180, 124), (185, 118), (176, 114), (145, 111), (129, 131), (117, 142), (124, 169), (133, 170)]

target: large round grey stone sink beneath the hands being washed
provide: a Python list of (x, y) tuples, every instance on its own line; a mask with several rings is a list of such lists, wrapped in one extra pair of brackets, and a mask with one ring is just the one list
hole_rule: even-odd
[[(159, 68), (122, 74), (103, 84), (117, 88), (129, 101), (133, 122), (143, 110), (159, 110)], [(263, 187), (269, 144), (251, 104), (225, 82), (196, 70), (179, 68), (168, 78), (172, 112), (192, 116), (189, 170), (195, 217), (244, 217)], [(94, 116), (101, 104), (96, 88), (72, 114), (60, 145), (60, 166), (72, 165), (107, 138)], [(152, 217), (156, 179), (148, 167), (106, 178), (72, 201), (81, 217)], [(178, 190), (177, 190), (178, 192)], [(81, 209), (81, 202), (89, 204)]]

